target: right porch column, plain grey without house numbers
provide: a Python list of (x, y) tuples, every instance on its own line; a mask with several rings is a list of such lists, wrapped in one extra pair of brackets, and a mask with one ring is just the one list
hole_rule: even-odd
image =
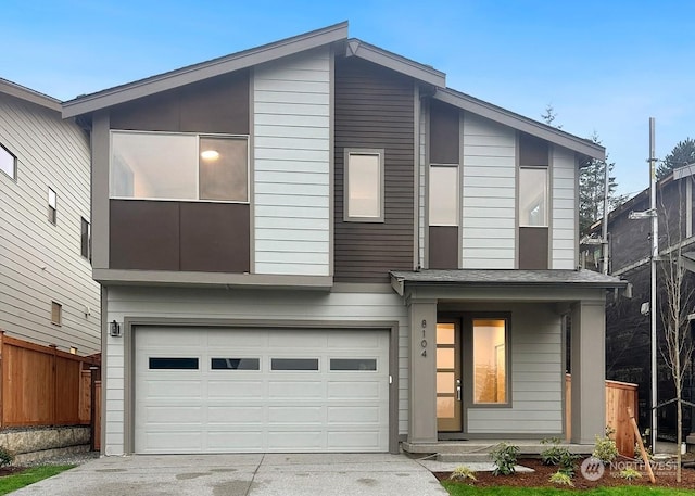
[(606, 429), (606, 305), (582, 301), (571, 315), (571, 441), (594, 444)]

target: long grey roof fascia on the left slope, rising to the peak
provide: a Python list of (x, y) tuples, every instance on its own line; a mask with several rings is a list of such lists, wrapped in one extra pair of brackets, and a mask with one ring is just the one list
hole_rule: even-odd
[(346, 39), (348, 23), (334, 24), (274, 43), (213, 59), (97, 93), (78, 97), (63, 103), (63, 118), (88, 114), (160, 91), (175, 89), (191, 82), (198, 82)]

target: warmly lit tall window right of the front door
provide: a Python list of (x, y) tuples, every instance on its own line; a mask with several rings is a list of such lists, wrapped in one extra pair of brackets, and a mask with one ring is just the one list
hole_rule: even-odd
[(507, 321), (473, 319), (473, 403), (507, 404)]

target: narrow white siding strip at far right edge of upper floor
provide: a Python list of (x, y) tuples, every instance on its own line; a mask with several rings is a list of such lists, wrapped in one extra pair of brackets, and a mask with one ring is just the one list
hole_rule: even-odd
[(577, 165), (574, 153), (553, 147), (551, 268), (577, 268)]

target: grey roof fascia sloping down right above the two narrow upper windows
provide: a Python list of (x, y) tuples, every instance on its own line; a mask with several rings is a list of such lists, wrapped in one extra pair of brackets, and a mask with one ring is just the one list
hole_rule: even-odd
[(502, 109), (501, 106), (493, 105), (492, 103), (488, 103), (451, 88), (438, 88), (433, 98), (464, 111), (471, 112), (519, 131), (544, 139), (551, 143), (565, 147), (590, 158), (596, 158), (599, 161), (606, 160), (606, 149), (601, 144), (578, 138), (569, 132), (565, 132), (552, 126), (523, 117), (522, 115), (515, 114), (506, 109)]

